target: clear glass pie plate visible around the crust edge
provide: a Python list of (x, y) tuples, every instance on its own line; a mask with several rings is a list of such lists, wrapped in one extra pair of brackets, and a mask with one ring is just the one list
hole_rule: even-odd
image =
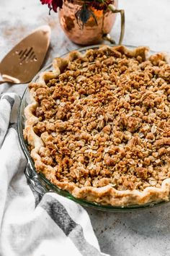
[[(133, 46), (127, 46), (128, 48), (134, 48)], [(99, 48), (99, 45), (97, 46), (89, 46), (85, 48), (79, 48), (78, 51), (81, 51), (81, 53), (84, 53), (89, 48)], [(151, 52), (153, 53), (153, 52)], [(67, 53), (68, 54), (68, 53)], [(62, 57), (66, 56), (67, 54), (63, 54)], [(49, 71), (53, 69), (53, 65), (49, 64), (48, 67), (43, 68), (40, 72), (43, 71)], [(40, 72), (34, 77), (32, 82), (35, 82)], [(27, 182), (35, 189), (37, 193), (40, 195), (44, 195), (45, 192), (56, 192), (58, 195), (62, 195), (63, 197), (67, 197), (70, 200), (73, 200), (75, 202), (78, 202), (81, 205), (84, 205), (89, 208), (94, 208), (96, 210), (105, 210), (105, 211), (131, 211), (131, 210), (139, 210), (139, 209), (145, 209), (145, 208), (151, 208), (155, 205), (161, 205), (164, 204), (164, 201), (159, 202), (148, 202), (144, 205), (128, 205), (128, 206), (113, 206), (113, 205), (99, 205), (96, 202), (89, 202), (86, 200), (81, 200), (79, 198), (73, 197), (69, 192), (64, 191), (62, 189), (59, 189), (54, 184), (50, 183), (48, 179), (45, 178), (43, 174), (37, 173), (35, 170), (34, 161), (32, 160), (30, 156), (30, 152), (28, 150), (27, 141), (24, 140), (23, 136), (23, 129), (24, 129), (24, 122), (25, 122), (25, 116), (24, 116), (24, 108), (30, 103), (30, 93), (28, 88), (24, 91), (24, 94), (22, 96), (22, 101), (19, 106), (18, 111), (18, 119), (17, 119), (17, 130), (19, 135), (19, 142), (22, 147), (22, 150), (24, 152), (24, 155), (27, 158), (27, 168), (25, 169), (25, 175), (27, 177)]]

